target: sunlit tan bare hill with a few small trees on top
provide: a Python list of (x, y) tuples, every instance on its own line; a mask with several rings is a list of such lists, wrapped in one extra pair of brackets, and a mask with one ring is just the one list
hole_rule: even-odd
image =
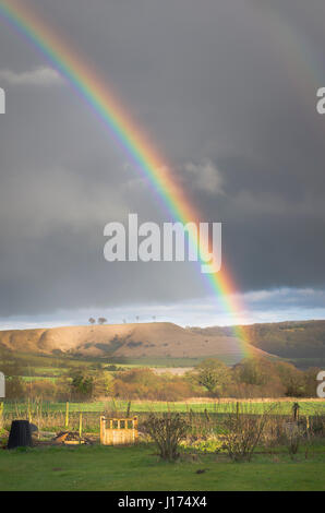
[[(168, 322), (1, 331), (0, 346), (21, 353), (83, 357), (214, 356), (230, 365), (243, 358), (239, 341), (230, 333), (198, 333)], [(256, 356), (269, 356), (253, 346), (251, 351)]]

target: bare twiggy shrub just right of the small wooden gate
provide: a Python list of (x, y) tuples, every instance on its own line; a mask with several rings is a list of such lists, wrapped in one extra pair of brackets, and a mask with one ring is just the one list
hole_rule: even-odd
[(179, 457), (179, 443), (185, 438), (189, 428), (183, 417), (179, 414), (151, 414), (143, 428), (158, 446), (162, 460), (174, 461)]

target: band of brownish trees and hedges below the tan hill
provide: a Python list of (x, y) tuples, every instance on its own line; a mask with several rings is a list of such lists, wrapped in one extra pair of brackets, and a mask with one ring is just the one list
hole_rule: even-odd
[[(73, 366), (71, 366), (73, 363)], [(265, 358), (244, 359), (234, 367), (209, 358), (183, 375), (157, 374), (148, 368), (67, 360), (55, 378), (37, 375), (10, 351), (0, 350), (0, 369), (7, 377), (7, 398), (88, 401), (98, 397), (181, 401), (189, 397), (314, 397), (320, 369), (306, 371)], [(26, 379), (28, 377), (28, 380)]]

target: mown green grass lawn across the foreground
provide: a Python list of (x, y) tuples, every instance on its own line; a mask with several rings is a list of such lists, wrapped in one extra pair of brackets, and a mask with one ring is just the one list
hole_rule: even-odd
[[(198, 469), (205, 472), (196, 474)], [(257, 454), (251, 463), (231, 463), (214, 454), (166, 463), (153, 445), (0, 451), (1, 491), (325, 490), (324, 475), (324, 446), (308, 460), (303, 450), (296, 461), (284, 450)]]

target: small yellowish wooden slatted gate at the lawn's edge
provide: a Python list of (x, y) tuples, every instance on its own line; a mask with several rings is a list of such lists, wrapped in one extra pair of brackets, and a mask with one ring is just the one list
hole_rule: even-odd
[(100, 417), (100, 443), (103, 445), (123, 445), (135, 443), (139, 438), (137, 417)]

